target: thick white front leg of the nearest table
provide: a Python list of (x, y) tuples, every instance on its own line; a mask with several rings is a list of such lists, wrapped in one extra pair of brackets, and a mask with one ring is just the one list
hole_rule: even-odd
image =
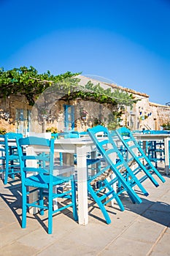
[(85, 146), (77, 146), (77, 188), (79, 224), (88, 224), (88, 186)]

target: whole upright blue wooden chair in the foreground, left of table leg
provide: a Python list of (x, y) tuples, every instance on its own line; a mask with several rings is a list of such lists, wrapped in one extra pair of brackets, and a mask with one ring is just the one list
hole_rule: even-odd
[[(36, 151), (34, 154), (23, 154), (23, 148), (32, 146)], [(20, 169), (22, 178), (22, 227), (26, 227), (26, 211), (29, 207), (39, 208), (40, 214), (44, 214), (44, 210), (48, 211), (48, 233), (53, 231), (53, 214), (62, 211), (65, 208), (73, 208), (74, 219), (77, 220), (77, 205), (76, 205), (76, 190), (74, 176), (55, 176), (57, 167), (54, 166), (54, 139), (47, 140), (45, 138), (28, 137), (21, 138), (18, 141), (18, 151), (20, 157)], [(45, 154), (37, 154), (37, 152), (45, 152)], [(48, 153), (48, 154), (47, 154)], [(35, 161), (34, 167), (29, 167), (29, 160)], [(39, 162), (43, 162), (40, 165)], [(61, 167), (61, 166), (60, 166)], [(70, 184), (71, 188), (68, 190), (59, 189), (63, 184)], [(57, 192), (54, 192), (53, 187), (58, 187)], [(29, 191), (28, 187), (34, 189)], [(39, 197), (33, 203), (28, 202), (28, 195), (37, 190)], [(47, 204), (45, 204), (45, 197), (47, 197)], [(70, 203), (64, 204), (62, 207), (54, 209), (53, 200), (55, 198), (69, 198)]]

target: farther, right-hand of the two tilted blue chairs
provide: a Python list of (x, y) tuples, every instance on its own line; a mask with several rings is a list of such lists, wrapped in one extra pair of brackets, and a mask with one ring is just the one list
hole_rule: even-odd
[(153, 174), (158, 176), (162, 182), (165, 182), (163, 176), (161, 176), (158, 170), (152, 165), (152, 162), (150, 162), (150, 159), (146, 156), (146, 154), (144, 154), (144, 151), (139, 146), (139, 143), (136, 141), (131, 131), (126, 127), (121, 127), (115, 132), (125, 148), (127, 148), (129, 154), (128, 161), (130, 162), (132, 159), (134, 159), (137, 164), (134, 172), (136, 172), (136, 174), (141, 174), (142, 172), (144, 173), (144, 176), (140, 178), (140, 182), (150, 178), (150, 181), (152, 181), (155, 187), (158, 187), (158, 181), (155, 180)]

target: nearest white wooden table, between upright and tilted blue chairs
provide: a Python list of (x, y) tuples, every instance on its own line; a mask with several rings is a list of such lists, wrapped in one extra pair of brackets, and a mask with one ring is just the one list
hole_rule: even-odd
[(77, 189), (79, 224), (88, 224), (88, 186), (86, 154), (96, 151), (90, 138), (55, 140), (55, 152), (77, 154)]

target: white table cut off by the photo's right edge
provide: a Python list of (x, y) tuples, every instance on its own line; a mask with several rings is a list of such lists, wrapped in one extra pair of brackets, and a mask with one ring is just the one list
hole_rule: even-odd
[(150, 141), (150, 140), (163, 140), (164, 148), (165, 148), (165, 173), (169, 175), (169, 140), (170, 134), (147, 134), (147, 133), (134, 133), (134, 138), (142, 141)]

